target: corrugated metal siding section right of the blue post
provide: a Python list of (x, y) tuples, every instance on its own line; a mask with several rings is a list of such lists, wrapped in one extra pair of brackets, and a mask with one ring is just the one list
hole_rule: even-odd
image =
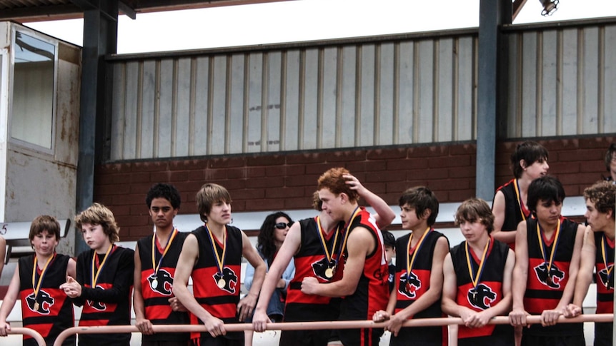
[(507, 137), (616, 132), (616, 25), (511, 32), (509, 40)]

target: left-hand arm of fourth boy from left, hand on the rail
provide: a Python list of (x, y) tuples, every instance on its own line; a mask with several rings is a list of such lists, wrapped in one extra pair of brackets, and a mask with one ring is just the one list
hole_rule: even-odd
[(212, 316), (205, 310), (192, 293), (188, 290), (188, 279), (192, 274), (192, 268), (199, 258), (199, 242), (197, 237), (189, 234), (182, 245), (182, 252), (177, 260), (177, 268), (175, 270), (175, 278), (173, 280), (173, 294), (182, 302), (182, 305), (187, 308), (193, 315), (196, 315), (199, 320), (204, 322), (207, 331), (212, 337), (225, 335), (224, 323), (217, 317)]

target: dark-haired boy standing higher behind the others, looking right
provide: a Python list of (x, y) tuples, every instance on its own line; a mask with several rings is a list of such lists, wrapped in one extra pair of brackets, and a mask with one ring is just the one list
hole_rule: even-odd
[(492, 237), (507, 243), (515, 250), (515, 231), (517, 225), (530, 217), (527, 208), (528, 186), (547, 174), (547, 149), (534, 141), (518, 144), (511, 154), (511, 167), (514, 178), (497, 188), (492, 202), (495, 215)]

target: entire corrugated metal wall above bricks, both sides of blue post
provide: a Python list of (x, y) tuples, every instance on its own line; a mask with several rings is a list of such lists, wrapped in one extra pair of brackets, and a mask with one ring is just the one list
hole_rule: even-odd
[[(616, 24), (507, 36), (507, 137), (616, 132)], [(473, 31), (110, 63), (111, 161), (476, 138)]]

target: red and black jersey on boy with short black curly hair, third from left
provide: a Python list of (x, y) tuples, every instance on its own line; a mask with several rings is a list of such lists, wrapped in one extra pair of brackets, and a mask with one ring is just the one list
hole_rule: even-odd
[[(162, 258), (157, 273), (152, 268), (152, 238), (154, 234), (137, 241), (139, 258), (141, 260), (141, 296), (144, 299), (145, 318), (153, 325), (187, 325), (190, 323), (188, 313), (173, 311), (169, 305), (169, 298), (174, 297), (173, 279), (179, 253), (188, 233), (178, 232), (169, 244), (169, 250)], [(154, 250), (154, 263), (158, 265), (164, 252), (164, 244), (156, 243)], [(157, 333), (143, 335), (142, 340), (173, 341), (188, 340), (189, 333)]]

